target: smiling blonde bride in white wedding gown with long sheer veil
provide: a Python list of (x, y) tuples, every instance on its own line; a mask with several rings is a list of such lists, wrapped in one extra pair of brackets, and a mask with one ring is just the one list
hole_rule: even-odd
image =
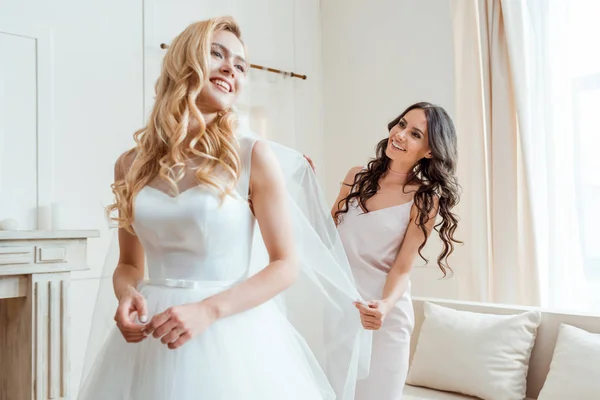
[[(232, 18), (169, 47), (115, 165), (116, 328), (99, 335), (95, 312), (79, 399), (350, 400), (367, 373), (360, 296), (310, 167), (236, 122), (248, 68)], [(111, 304), (99, 294), (96, 311)]]

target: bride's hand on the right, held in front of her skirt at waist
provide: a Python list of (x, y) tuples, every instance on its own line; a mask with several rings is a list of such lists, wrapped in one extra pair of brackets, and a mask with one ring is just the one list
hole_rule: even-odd
[(213, 322), (216, 316), (205, 302), (184, 304), (168, 308), (152, 317), (144, 332), (161, 338), (170, 349), (183, 346), (188, 340), (200, 335)]

